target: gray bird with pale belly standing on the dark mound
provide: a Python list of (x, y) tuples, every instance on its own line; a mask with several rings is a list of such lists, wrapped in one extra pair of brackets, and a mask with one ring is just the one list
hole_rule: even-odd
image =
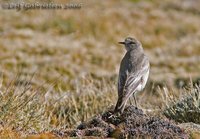
[(149, 59), (144, 54), (142, 44), (131, 37), (124, 42), (126, 54), (123, 57), (118, 77), (118, 101), (114, 112), (123, 113), (127, 100), (133, 95), (137, 106), (135, 94), (144, 89), (149, 76)]

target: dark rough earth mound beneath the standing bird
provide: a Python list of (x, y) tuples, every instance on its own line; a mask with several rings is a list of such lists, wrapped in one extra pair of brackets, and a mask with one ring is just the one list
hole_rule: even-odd
[(113, 114), (112, 110), (108, 110), (87, 122), (81, 123), (75, 130), (65, 131), (63, 135), (104, 138), (189, 138), (185, 131), (176, 124), (148, 116), (134, 106), (126, 107), (121, 115)]

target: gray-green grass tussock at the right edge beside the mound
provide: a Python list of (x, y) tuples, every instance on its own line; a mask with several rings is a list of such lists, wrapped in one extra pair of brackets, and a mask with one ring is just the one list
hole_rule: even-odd
[(168, 102), (163, 114), (177, 122), (193, 122), (200, 124), (200, 88), (191, 87), (178, 99)]

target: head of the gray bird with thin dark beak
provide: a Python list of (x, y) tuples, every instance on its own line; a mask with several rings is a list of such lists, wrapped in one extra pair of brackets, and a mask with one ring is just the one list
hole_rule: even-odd
[(141, 43), (135, 38), (127, 37), (124, 42), (119, 42), (119, 44), (124, 44), (127, 51), (141, 47)]

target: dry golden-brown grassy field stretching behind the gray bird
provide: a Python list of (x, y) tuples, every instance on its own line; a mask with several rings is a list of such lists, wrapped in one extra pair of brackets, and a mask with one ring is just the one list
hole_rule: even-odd
[(3, 129), (72, 128), (114, 105), (125, 53), (117, 42), (127, 36), (150, 58), (150, 79), (137, 97), (146, 111), (157, 115), (166, 93), (180, 96), (176, 81), (200, 78), (198, 0), (79, 2), (76, 10), (0, 9)]

